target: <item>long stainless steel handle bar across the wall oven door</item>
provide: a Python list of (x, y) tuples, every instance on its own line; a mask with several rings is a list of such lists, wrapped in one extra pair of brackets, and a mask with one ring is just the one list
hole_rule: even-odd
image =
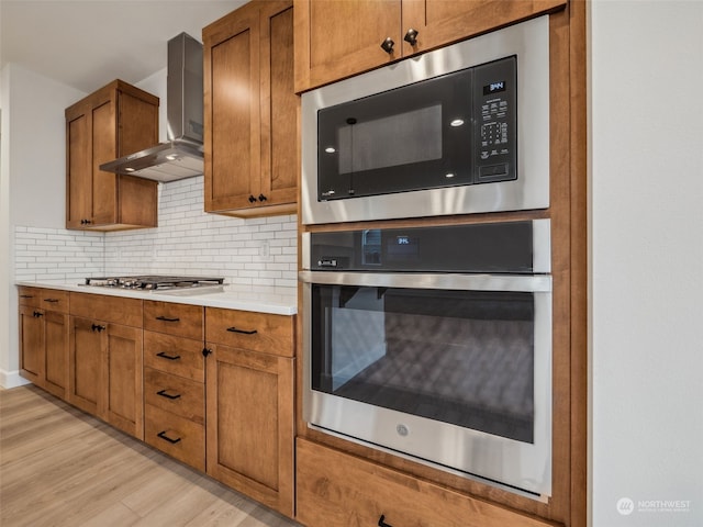
[(300, 271), (303, 283), (371, 288), (444, 289), (458, 291), (551, 292), (550, 274), (455, 274), (415, 272)]

